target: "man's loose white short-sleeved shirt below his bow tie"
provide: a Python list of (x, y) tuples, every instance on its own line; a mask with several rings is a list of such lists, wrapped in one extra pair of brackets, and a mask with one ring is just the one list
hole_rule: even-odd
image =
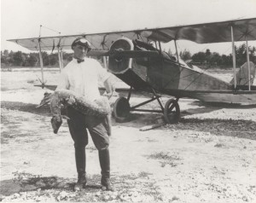
[(94, 59), (84, 58), (84, 62), (80, 63), (73, 59), (61, 71), (57, 90), (72, 90), (94, 101), (100, 97), (99, 82), (104, 82), (109, 76), (110, 73)]

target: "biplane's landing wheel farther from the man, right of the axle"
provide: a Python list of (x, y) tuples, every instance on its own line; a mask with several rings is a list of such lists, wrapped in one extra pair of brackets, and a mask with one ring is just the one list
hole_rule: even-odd
[(170, 99), (166, 102), (164, 117), (167, 124), (177, 124), (180, 119), (180, 108), (176, 100)]

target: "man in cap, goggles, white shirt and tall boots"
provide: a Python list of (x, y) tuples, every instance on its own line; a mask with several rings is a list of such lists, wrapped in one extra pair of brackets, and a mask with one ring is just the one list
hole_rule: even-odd
[[(57, 90), (73, 90), (87, 99), (95, 101), (100, 97), (98, 90), (98, 79), (102, 80), (107, 93), (112, 89), (109, 83), (108, 73), (100, 63), (94, 59), (85, 57), (90, 51), (90, 43), (85, 38), (77, 38), (73, 41), (73, 61), (70, 61), (61, 72), (61, 77)], [(73, 102), (72, 98), (68, 102)], [(78, 171), (78, 182), (74, 190), (78, 191), (86, 184), (86, 156), (85, 146), (88, 144), (88, 133), (94, 142), (100, 159), (102, 169), (102, 189), (113, 190), (110, 183), (110, 158), (109, 158), (109, 138), (105, 118), (98, 118), (92, 115), (84, 115), (72, 107), (67, 107), (67, 121), (70, 134), (73, 138), (75, 148), (75, 160)]]

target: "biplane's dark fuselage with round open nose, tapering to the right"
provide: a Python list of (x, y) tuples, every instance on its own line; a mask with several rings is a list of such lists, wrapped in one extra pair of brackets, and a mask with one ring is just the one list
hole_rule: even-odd
[[(120, 38), (111, 49), (158, 50), (143, 42)], [(157, 90), (160, 94), (190, 97), (203, 102), (256, 102), (256, 94), (237, 96), (233, 85), (212, 76), (199, 67), (189, 66), (182, 60), (159, 51), (154, 57), (109, 58), (109, 71), (134, 90)], [(237, 93), (237, 91), (236, 91)], [(256, 93), (256, 92), (255, 92)], [(247, 93), (246, 93), (247, 94)], [(233, 95), (230, 99), (230, 96)], [(253, 97), (252, 97), (253, 96)], [(251, 98), (252, 97), (252, 98)], [(255, 98), (254, 98), (255, 97)], [(235, 98), (235, 99), (234, 99)], [(236, 101), (237, 98), (237, 101)], [(244, 100), (244, 101), (243, 101)]]

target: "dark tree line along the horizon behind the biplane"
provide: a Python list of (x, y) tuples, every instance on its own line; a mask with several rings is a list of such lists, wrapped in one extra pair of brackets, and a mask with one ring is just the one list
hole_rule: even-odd
[[(236, 49), (236, 65), (241, 66), (245, 61), (247, 61), (246, 54), (246, 44), (241, 44)], [(169, 54), (172, 54), (172, 51), (169, 49)], [(250, 47), (249, 54), (252, 61), (256, 61), (256, 48)], [(217, 52), (211, 52), (210, 49), (207, 49), (205, 52), (198, 52), (194, 55), (191, 55), (189, 50), (184, 49), (179, 53), (179, 56), (183, 61), (189, 61), (195, 65), (202, 65), (207, 67), (232, 67), (233, 60), (232, 55), (219, 55)], [(44, 67), (58, 67), (59, 59), (57, 53), (47, 53), (42, 52), (43, 64)], [(71, 61), (73, 58), (72, 53), (62, 53), (62, 58), (64, 64), (67, 64), (68, 61)], [(2, 67), (39, 67), (39, 54), (38, 53), (23, 53), (21, 51), (1, 51), (1, 65)]]

